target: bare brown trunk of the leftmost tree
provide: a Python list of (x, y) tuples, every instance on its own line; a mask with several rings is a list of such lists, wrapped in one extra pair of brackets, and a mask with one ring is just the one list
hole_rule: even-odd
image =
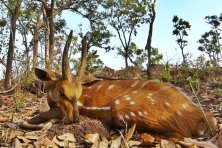
[(10, 29), (9, 49), (8, 49), (6, 76), (5, 76), (6, 89), (11, 87), (11, 82), (12, 82), (12, 61), (13, 61), (14, 46), (15, 46), (16, 21), (18, 19), (21, 3), (22, 0), (17, 1), (15, 9), (12, 10), (11, 14), (11, 29)]

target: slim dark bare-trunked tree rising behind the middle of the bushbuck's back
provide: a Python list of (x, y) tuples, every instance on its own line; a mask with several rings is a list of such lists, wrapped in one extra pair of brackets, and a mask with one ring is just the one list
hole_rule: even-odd
[(149, 32), (147, 37), (147, 42), (145, 50), (147, 50), (147, 75), (150, 77), (150, 67), (151, 67), (151, 56), (152, 56), (152, 36), (153, 36), (153, 25), (156, 18), (155, 5), (156, 0), (148, 0), (148, 13), (149, 13)]

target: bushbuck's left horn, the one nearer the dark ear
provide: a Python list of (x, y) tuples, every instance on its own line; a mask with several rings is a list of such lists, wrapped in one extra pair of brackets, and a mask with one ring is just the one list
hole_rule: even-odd
[(62, 78), (63, 80), (70, 80), (70, 81), (72, 80), (72, 74), (69, 66), (68, 51), (72, 41), (72, 34), (73, 31), (71, 30), (68, 39), (66, 41), (66, 45), (64, 47), (63, 57), (62, 57)]

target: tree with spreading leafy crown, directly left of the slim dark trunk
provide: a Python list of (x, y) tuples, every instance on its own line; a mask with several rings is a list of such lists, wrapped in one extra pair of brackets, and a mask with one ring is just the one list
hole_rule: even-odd
[(145, 0), (106, 0), (103, 7), (109, 24), (118, 34), (118, 38), (123, 48), (120, 48), (125, 59), (126, 67), (129, 66), (130, 44), (132, 36), (137, 35), (137, 28), (147, 23), (146, 1)]

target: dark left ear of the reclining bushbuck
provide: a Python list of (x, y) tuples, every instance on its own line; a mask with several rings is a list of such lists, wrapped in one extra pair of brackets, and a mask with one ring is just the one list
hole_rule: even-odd
[(56, 79), (52, 72), (48, 72), (39, 68), (35, 68), (35, 75), (42, 81), (53, 81)]

